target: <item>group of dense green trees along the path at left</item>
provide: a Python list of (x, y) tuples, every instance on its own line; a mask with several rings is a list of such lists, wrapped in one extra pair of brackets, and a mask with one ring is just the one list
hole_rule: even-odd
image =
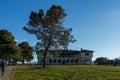
[(8, 64), (17, 64), (17, 62), (29, 62), (33, 59), (33, 48), (27, 41), (18, 43), (15, 41), (11, 32), (6, 29), (0, 30), (0, 61), (6, 61)]

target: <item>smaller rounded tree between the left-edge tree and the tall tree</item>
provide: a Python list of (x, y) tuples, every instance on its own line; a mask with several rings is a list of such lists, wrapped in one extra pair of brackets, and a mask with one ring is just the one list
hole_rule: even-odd
[(18, 45), (21, 47), (22, 64), (24, 64), (24, 61), (31, 61), (33, 59), (33, 48), (29, 43), (24, 41)]

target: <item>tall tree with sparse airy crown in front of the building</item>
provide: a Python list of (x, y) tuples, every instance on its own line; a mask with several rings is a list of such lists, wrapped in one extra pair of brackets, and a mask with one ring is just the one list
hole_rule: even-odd
[(76, 41), (71, 35), (72, 29), (63, 27), (65, 17), (66, 13), (61, 6), (52, 5), (46, 13), (43, 9), (38, 13), (32, 11), (28, 24), (23, 28), (39, 40), (37, 49), (44, 51), (43, 67), (46, 67), (46, 54), (49, 50), (67, 49), (69, 42)]

